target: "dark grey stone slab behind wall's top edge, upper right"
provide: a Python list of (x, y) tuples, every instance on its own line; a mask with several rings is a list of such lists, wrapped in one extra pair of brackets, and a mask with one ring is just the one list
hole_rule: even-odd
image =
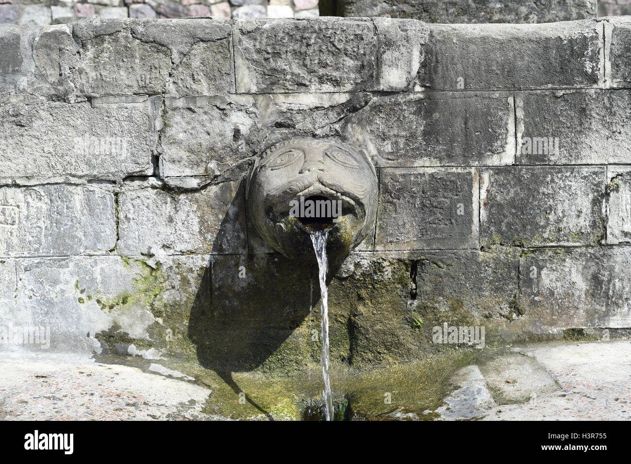
[(341, 0), (341, 16), (391, 16), (428, 23), (550, 23), (596, 16), (596, 0)]

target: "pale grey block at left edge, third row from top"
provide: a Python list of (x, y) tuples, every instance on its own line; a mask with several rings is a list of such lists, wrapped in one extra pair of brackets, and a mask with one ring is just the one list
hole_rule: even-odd
[(0, 257), (68, 256), (114, 248), (114, 195), (96, 187), (0, 187)]

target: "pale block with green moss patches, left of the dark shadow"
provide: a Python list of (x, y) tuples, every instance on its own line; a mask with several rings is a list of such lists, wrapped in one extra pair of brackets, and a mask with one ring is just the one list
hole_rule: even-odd
[(150, 359), (167, 352), (180, 358), (194, 356), (191, 343), (185, 341), (187, 322), (209, 269), (208, 256), (158, 261), (110, 255), (7, 262), (20, 279), (10, 287), (12, 304), (0, 306), (0, 323), (47, 328), (50, 350), (140, 354)]

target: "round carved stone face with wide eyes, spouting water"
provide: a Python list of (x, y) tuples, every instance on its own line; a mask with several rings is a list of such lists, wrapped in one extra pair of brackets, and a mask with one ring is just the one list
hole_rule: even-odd
[[(329, 223), (292, 216), (292, 200), (299, 202), (300, 197), (341, 200), (341, 215)], [(327, 252), (334, 260), (369, 233), (377, 211), (377, 175), (368, 156), (347, 144), (293, 139), (256, 161), (247, 185), (247, 208), (261, 236), (290, 258), (312, 254), (309, 231), (328, 228)]]

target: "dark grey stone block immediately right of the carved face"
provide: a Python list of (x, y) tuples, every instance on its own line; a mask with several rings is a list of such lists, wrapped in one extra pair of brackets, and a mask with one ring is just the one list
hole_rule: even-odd
[(375, 250), (478, 248), (478, 172), (380, 170)]

